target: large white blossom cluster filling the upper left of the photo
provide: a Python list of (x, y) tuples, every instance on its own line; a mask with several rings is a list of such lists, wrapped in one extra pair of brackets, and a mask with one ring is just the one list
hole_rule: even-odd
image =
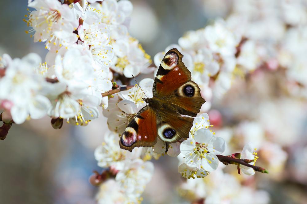
[(47, 113), (85, 126), (99, 117), (98, 106), (107, 108), (108, 97), (101, 94), (112, 89), (112, 72), (132, 77), (152, 71), (150, 56), (127, 32), (130, 1), (84, 1), (83, 7), (70, 2), (29, 1), (35, 10), (24, 20), (32, 27), (26, 33), (35, 32), (34, 42), (45, 42), (49, 52), (45, 63), (35, 54), (21, 60), (3, 56), (4, 119), (20, 124)]

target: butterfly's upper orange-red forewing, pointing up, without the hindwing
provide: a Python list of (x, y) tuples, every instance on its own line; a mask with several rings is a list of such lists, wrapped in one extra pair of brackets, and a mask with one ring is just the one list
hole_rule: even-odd
[(153, 97), (168, 96), (191, 80), (191, 72), (182, 62), (182, 57), (176, 48), (165, 54), (153, 83)]

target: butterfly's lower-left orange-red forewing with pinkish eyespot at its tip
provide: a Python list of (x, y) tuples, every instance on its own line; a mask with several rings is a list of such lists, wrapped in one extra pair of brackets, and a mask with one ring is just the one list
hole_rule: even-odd
[(130, 152), (134, 147), (151, 147), (157, 143), (156, 114), (145, 106), (134, 116), (119, 139), (119, 146)]

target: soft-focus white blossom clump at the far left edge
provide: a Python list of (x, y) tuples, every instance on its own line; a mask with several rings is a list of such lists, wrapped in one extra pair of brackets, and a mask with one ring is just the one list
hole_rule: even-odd
[[(9, 59), (6, 57), (6, 59)], [(0, 80), (0, 99), (7, 117), (15, 123), (39, 119), (46, 115), (50, 101), (41, 92), (45, 80), (33, 70), (41, 58), (34, 53), (22, 59), (6, 60), (5, 76)]]

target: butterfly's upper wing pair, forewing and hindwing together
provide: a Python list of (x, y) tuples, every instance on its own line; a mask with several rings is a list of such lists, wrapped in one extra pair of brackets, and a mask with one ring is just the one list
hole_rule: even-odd
[(153, 96), (172, 104), (182, 115), (195, 117), (206, 101), (198, 85), (190, 81), (191, 72), (182, 57), (176, 48), (165, 54), (153, 84)]

